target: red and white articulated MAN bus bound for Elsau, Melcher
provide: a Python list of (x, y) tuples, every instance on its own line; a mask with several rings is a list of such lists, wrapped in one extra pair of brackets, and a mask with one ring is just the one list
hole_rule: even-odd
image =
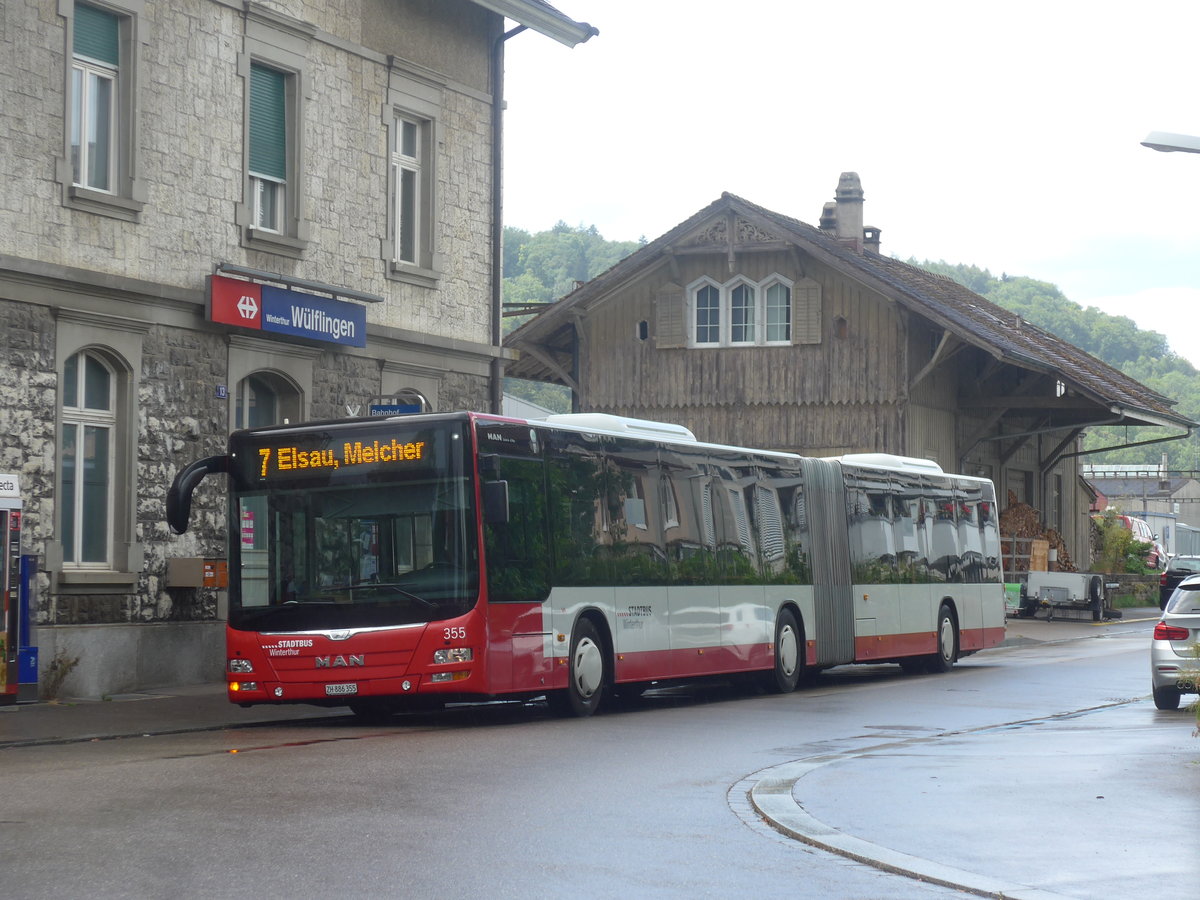
[(230, 701), (360, 715), (845, 664), (942, 672), (1004, 635), (995, 488), (887, 455), (805, 458), (610, 415), (476, 413), (235, 432)]

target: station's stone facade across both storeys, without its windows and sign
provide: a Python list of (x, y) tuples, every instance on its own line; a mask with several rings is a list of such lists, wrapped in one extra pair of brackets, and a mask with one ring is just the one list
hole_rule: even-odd
[[(221, 676), (223, 594), (166, 581), (172, 558), (227, 557), (223, 479), (206, 479), (197, 490), (186, 534), (170, 534), (166, 523), (166, 492), (175, 474), (224, 452), (232, 426), (226, 392), (236, 390), (232, 378), (242, 377), (230, 374), (232, 347), (246, 334), (230, 335), (205, 313), (205, 278), (218, 263), (383, 298), (367, 306), (365, 348), (252, 336), (311, 364), (311, 383), (296, 384), (307, 418), (340, 418), (348, 406), (370, 402), (388, 364), (392, 379), (410, 368), (422, 384), (436, 384), (438, 410), (488, 408), (488, 54), (491, 30), (502, 19), (475, 8), (463, 18), (462, 11), (409, 0), (253, 6), (269, 12), (257, 17), (258, 28), (276, 14), (278, 22), (296, 20), (295, 28), (280, 25), (278, 34), (305, 67), (304, 154), (294, 187), (304, 197), (308, 234), (298, 257), (248, 248), (238, 223), (247, 181), (246, 83), (239, 65), (253, 16), (226, 0), (115, 5), (138, 17), (137, 65), (122, 73), (134, 76), (136, 169), (145, 187), (140, 209), (121, 217), (65, 199), (70, 50), (59, 10), (70, 7), (35, 0), (0, 5), (0, 358), (7, 364), (0, 368), (0, 472), (20, 475), (23, 550), (42, 560), (34, 605), (42, 668), (59, 649), (77, 654), (76, 683), (67, 686), (78, 696)], [(372, 30), (362, 38), (368, 22), (380, 17), (391, 17), (392, 32)], [(401, 35), (404, 44), (374, 46), (388, 34)], [(428, 50), (431, 35), (440, 35), (442, 56), (404, 55), (404, 47)], [(439, 73), (431, 68), (438, 59), (454, 65)], [(394, 277), (385, 259), (391, 116), (385, 104), (400, 77), (420, 82), (437, 98), (428, 163), (440, 270), (424, 282)], [(92, 338), (92, 322), (120, 332), (124, 343), (106, 344), (98, 328)], [(80, 347), (72, 338), (72, 349), (60, 349), (70, 329), (84, 335), (82, 348), (125, 360), (121, 377), (137, 386), (132, 421), (119, 421), (126, 427), (116, 436), (130, 450), (114, 484), (128, 490), (114, 504), (130, 515), (114, 528), (113, 571), (80, 574), (76, 566), (64, 574), (54, 562), (61, 556), (55, 428), (56, 371), (64, 362), (56, 356)], [(139, 362), (122, 347), (133, 348)], [(241, 354), (244, 360), (245, 349)]]

